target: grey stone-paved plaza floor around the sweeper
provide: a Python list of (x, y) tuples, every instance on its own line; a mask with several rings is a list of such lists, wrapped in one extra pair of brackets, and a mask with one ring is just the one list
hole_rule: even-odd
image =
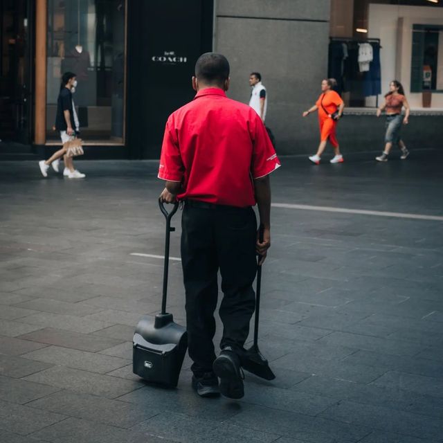
[[(161, 297), (156, 162), (79, 161), (77, 181), (0, 163), (0, 442), (443, 442), (443, 153), (281, 160), (260, 325), (277, 378), (246, 374), (241, 401), (199, 398), (188, 357), (176, 390), (132, 374)], [(168, 310), (184, 323), (179, 260)]]

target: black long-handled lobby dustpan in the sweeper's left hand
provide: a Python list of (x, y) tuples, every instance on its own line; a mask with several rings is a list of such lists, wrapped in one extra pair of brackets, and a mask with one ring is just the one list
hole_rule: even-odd
[(168, 294), (169, 245), (172, 216), (177, 213), (176, 203), (170, 213), (159, 200), (161, 212), (166, 219), (165, 268), (163, 271), (163, 298), (161, 314), (143, 316), (138, 322), (133, 338), (132, 370), (152, 383), (174, 388), (177, 386), (183, 359), (188, 347), (186, 328), (174, 323), (172, 314), (166, 312)]

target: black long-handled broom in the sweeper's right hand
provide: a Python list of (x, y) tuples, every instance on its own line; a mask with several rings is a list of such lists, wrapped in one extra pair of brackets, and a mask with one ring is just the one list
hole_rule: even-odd
[[(263, 242), (263, 226), (260, 226), (259, 231), (260, 242)], [(275, 374), (269, 368), (268, 361), (264, 358), (263, 354), (258, 348), (258, 322), (260, 319), (260, 291), (262, 287), (262, 265), (260, 260), (262, 257), (259, 255), (257, 259), (257, 287), (255, 289), (255, 323), (254, 323), (254, 343), (246, 351), (244, 358), (242, 359), (242, 367), (265, 380), (275, 379)]]

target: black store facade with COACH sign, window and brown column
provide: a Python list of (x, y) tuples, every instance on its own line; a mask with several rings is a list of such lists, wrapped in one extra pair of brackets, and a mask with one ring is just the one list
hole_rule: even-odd
[(211, 0), (0, 0), (0, 13), (0, 154), (11, 158), (60, 145), (57, 96), (72, 71), (85, 157), (158, 159), (213, 48)]

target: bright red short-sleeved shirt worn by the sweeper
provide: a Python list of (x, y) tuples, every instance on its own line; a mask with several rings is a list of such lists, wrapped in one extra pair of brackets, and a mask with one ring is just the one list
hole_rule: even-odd
[(168, 118), (159, 179), (183, 183), (179, 200), (254, 206), (253, 179), (279, 166), (257, 113), (219, 88), (202, 89)]

